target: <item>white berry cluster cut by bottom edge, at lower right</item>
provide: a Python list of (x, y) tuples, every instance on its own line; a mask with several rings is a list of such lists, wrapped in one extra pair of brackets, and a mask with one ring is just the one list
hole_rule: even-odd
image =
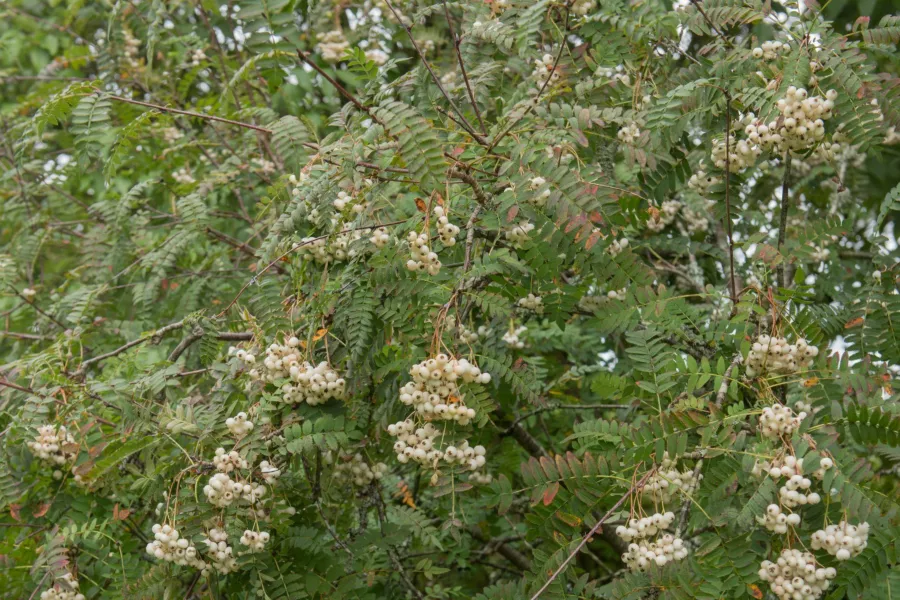
[(822, 596), (837, 571), (822, 568), (809, 552), (785, 548), (776, 562), (764, 560), (759, 577), (772, 587), (779, 600), (817, 600)]

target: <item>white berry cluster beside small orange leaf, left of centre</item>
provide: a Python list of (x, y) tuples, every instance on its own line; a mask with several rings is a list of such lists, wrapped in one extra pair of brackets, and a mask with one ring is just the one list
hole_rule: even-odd
[(288, 338), (286, 344), (271, 344), (266, 348), (263, 361), (265, 372), (254, 369), (250, 376), (270, 382), (290, 379), (282, 385), (281, 391), (284, 401), (291, 404), (306, 402), (315, 406), (332, 398), (342, 398), (347, 385), (344, 378), (324, 361), (315, 366), (301, 362), (299, 346), (300, 340), (296, 337)]

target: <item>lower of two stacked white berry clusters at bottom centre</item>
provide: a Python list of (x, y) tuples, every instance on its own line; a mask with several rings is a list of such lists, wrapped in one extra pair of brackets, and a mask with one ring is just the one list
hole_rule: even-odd
[(469, 471), (477, 471), (486, 462), (484, 446), (472, 448), (468, 440), (463, 440), (458, 446), (439, 447), (444, 436), (431, 423), (416, 428), (415, 423), (407, 419), (388, 425), (388, 433), (397, 438), (394, 442), (394, 452), (397, 453), (397, 460), (401, 463), (412, 460), (420, 465), (437, 469), (438, 464), (444, 462), (449, 466), (462, 465)]

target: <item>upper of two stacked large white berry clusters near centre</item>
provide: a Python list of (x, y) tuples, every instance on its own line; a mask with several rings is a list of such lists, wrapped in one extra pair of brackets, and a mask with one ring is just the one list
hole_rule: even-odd
[(490, 373), (482, 373), (464, 358), (457, 360), (446, 354), (413, 365), (409, 374), (413, 380), (400, 388), (400, 402), (414, 407), (427, 421), (456, 421), (460, 425), (468, 425), (475, 417), (475, 410), (463, 403), (457, 381), (481, 384), (491, 381)]

